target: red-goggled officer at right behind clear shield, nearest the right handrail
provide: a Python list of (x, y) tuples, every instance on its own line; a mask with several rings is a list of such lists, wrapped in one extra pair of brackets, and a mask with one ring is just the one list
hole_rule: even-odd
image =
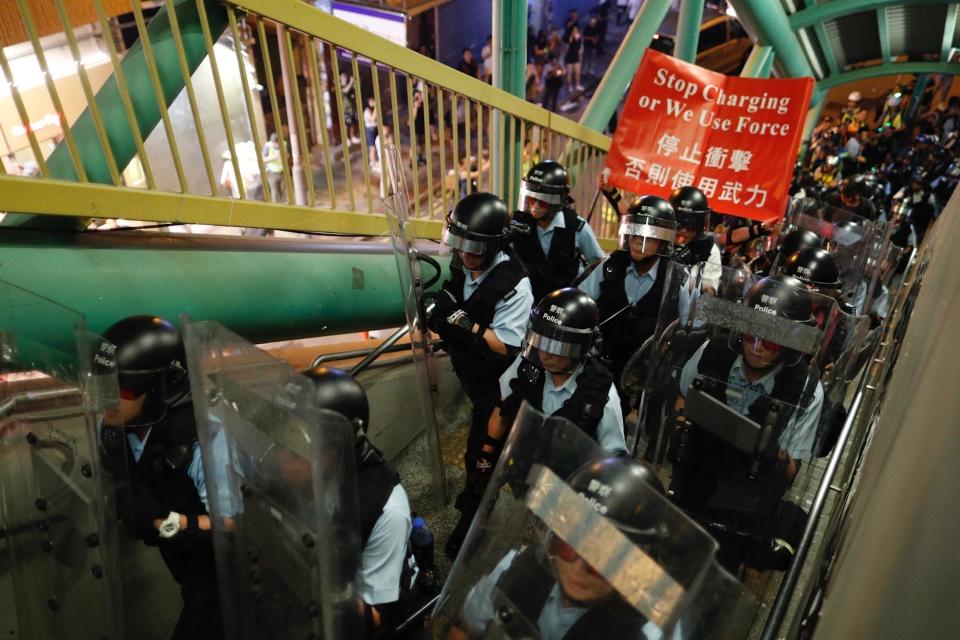
[[(816, 326), (809, 296), (789, 276), (760, 280), (743, 305), (764, 317)], [(671, 442), (671, 492), (708, 526), (720, 523), (712, 533), (727, 566), (749, 559), (757, 549), (749, 541), (762, 543), (801, 462), (813, 455), (824, 391), (805, 355), (769, 336), (723, 331), (711, 335), (680, 375), (679, 411), (691, 393), (703, 393), (761, 426), (763, 446), (751, 453), (699, 423), (681, 426)], [(769, 436), (760, 437), (768, 428)]]

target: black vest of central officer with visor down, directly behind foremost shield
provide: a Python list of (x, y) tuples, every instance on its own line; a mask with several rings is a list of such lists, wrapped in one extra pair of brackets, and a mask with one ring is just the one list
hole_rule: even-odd
[[(517, 377), (510, 382), (512, 393), (503, 401), (500, 415), (512, 423), (526, 400), (537, 411), (543, 411), (543, 386), (547, 373), (526, 358), (520, 360)], [(610, 396), (613, 376), (597, 361), (584, 365), (577, 377), (577, 388), (563, 406), (552, 415), (566, 418), (588, 436), (597, 439), (597, 427), (603, 418), (603, 408)]]

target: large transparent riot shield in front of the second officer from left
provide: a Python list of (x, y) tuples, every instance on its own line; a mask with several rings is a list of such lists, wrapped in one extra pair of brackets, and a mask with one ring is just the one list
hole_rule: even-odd
[(184, 331), (226, 637), (362, 637), (352, 427), (221, 325)]

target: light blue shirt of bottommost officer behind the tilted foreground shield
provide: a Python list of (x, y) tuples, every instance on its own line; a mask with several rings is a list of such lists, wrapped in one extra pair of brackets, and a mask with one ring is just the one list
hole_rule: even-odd
[[(477, 584), (473, 586), (467, 595), (467, 600), (463, 605), (463, 624), (467, 627), (465, 631), (475, 635), (481, 635), (486, 629), (487, 624), (493, 619), (495, 612), (493, 609), (493, 592), (497, 582), (503, 572), (510, 568), (517, 551), (512, 550), (505, 555), (497, 566), (494, 567), (488, 575), (480, 578)], [(581, 618), (589, 609), (584, 607), (564, 605), (563, 594), (560, 591), (560, 585), (555, 584), (547, 596), (547, 601), (540, 610), (540, 617), (537, 618), (537, 628), (540, 631), (540, 637), (543, 640), (559, 640), (570, 630), (577, 620)], [(663, 632), (652, 622), (647, 622), (643, 626), (645, 640), (661, 640)], [(671, 640), (679, 640), (680, 626), (674, 628), (670, 634)]]

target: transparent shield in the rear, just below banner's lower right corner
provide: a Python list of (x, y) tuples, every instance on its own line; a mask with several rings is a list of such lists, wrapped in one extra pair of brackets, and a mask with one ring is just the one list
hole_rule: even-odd
[[(852, 304), (864, 279), (867, 257), (873, 247), (875, 223), (846, 209), (838, 209), (812, 198), (790, 201), (783, 232), (806, 229), (823, 238), (824, 248), (837, 261), (842, 283), (842, 299)], [(774, 265), (772, 274), (778, 273)]]

